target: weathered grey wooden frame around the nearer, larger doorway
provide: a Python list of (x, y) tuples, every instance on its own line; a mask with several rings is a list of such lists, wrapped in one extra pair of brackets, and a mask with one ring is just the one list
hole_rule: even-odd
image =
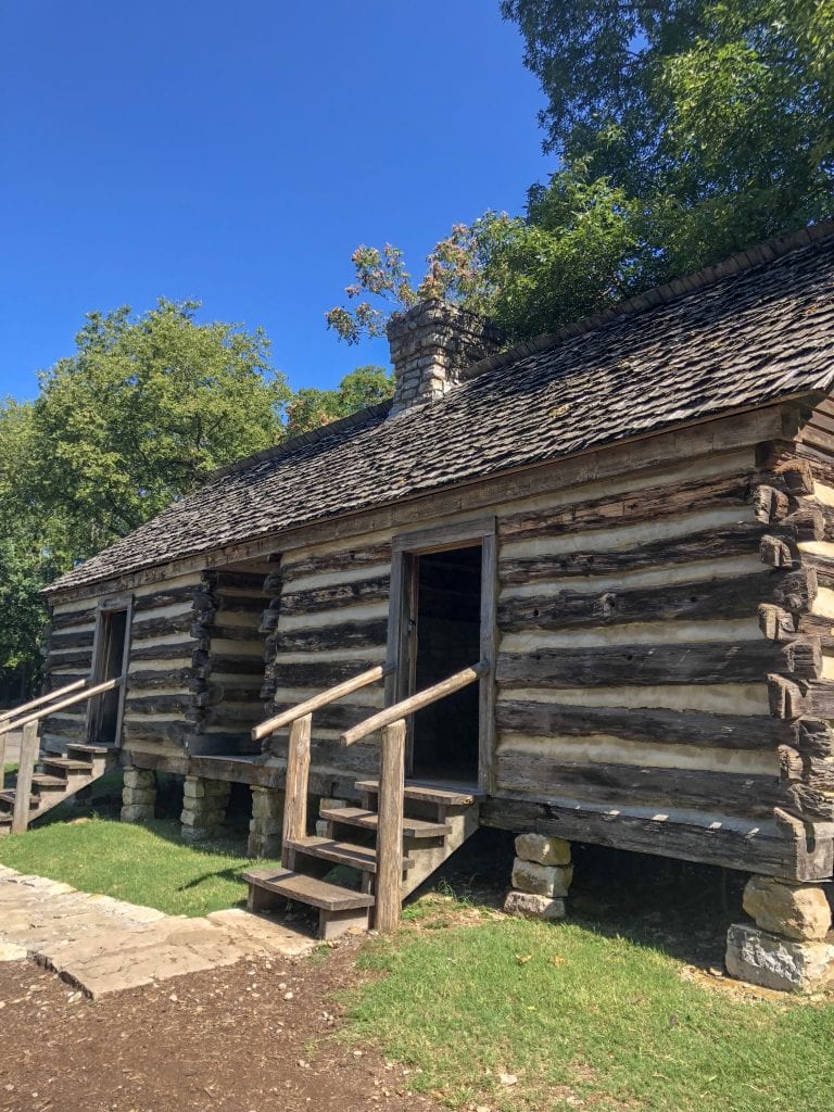
[[(496, 612), (498, 597), (498, 545), (495, 517), (435, 529), (398, 533), (391, 540), (391, 585), (388, 607), (388, 654), (395, 665), (385, 682), (385, 704), (413, 694), (416, 653), (411, 652), (410, 634), (417, 613), (417, 576), (419, 556), (467, 546), (480, 546), (480, 659), (489, 664), (478, 681), (478, 787), (494, 788), (495, 751), (495, 664), (498, 644)], [(404, 667), (403, 664), (406, 664)], [(476, 662), (473, 661), (473, 664)], [(408, 723), (408, 753), (411, 753), (413, 719)]]

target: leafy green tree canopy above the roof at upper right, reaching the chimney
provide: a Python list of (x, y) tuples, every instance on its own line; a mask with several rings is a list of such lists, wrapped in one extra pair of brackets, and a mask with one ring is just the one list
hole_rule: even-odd
[(348, 342), (424, 297), (549, 331), (834, 209), (834, 0), (502, 0), (559, 159), (523, 217), (459, 225), (413, 284), (360, 247)]

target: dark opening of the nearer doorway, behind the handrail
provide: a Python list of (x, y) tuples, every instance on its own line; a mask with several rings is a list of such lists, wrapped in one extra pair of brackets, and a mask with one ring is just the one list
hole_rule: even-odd
[[(480, 544), (416, 557), (414, 691), (480, 659)], [(478, 684), (414, 717), (411, 774), (418, 780), (478, 781)]]

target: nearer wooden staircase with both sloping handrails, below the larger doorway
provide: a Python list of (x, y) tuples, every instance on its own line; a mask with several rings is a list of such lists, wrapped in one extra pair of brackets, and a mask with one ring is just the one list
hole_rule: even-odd
[[(486, 661), (371, 715), (341, 735), (342, 745), (381, 733), (379, 780), (356, 784), (360, 807), (328, 807), (316, 835), (307, 827), (307, 783), (312, 713), (391, 671), (379, 665), (300, 703), (252, 729), (255, 741), (290, 726), (280, 868), (252, 868), (251, 912), (294, 901), (318, 909), (319, 935), (351, 927), (394, 930), (403, 900), (430, 876), (478, 827), (478, 793), (406, 784), (407, 718), (488, 674)], [(346, 868), (347, 880), (332, 876)]]

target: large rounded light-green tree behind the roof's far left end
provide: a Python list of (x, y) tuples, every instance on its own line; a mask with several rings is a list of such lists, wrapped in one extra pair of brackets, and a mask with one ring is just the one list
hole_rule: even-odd
[(197, 302), (92, 312), (41, 375), (23, 483), (67, 564), (99, 552), (217, 467), (284, 436), (290, 391), (260, 330), (198, 324)]

